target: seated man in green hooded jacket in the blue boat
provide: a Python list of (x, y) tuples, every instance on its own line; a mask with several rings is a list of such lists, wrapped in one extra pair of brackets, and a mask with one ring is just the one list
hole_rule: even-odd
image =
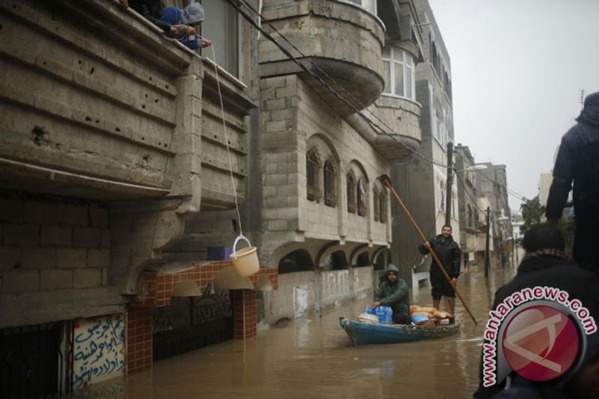
[(389, 263), (385, 281), (374, 293), (374, 302), (370, 304), (370, 307), (374, 309), (377, 306), (391, 306), (394, 324), (409, 324), (408, 286), (403, 279), (398, 277), (399, 272), (400, 270), (394, 264)]

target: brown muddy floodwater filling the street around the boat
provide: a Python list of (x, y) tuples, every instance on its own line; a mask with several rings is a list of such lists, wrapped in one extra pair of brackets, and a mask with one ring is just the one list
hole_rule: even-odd
[[(478, 385), (480, 345), (493, 293), (512, 267), (485, 280), (470, 270), (458, 288), (479, 326), (456, 304), (458, 334), (439, 340), (355, 348), (338, 325), (354, 318), (367, 298), (229, 341), (155, 362), (126, 380), (92, 386), (76, 397), (102, 398), (468, 398)], [(430, 288), (412, 302), (431, 304)], [(444, 305), (441, 305), (443, 308)]]

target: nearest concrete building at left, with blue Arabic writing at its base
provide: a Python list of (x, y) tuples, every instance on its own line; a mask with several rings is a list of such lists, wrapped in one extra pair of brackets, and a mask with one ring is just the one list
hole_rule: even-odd
[[(163, 314), (174, 283), (204, 290), (226, 266), (187, 258), (181, 272), (172, 252), (193, 215), (234, 209), (231, 180), (240, 200), (253, 195), (256, 33), (225, 2), (207, 11), (205, 35), (226, 50), (216, 68), (116, 1), (0, 2), (6, 397), (151, 366), (156, 337), (176, 330)], [(252, 306), (252, 296), (232, 295), (219, 324), (231, 336), (245, 325), (236, 312)]]

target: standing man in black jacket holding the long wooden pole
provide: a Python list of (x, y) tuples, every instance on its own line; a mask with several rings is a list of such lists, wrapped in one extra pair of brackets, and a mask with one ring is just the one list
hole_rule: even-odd
[(419, 245), (418, 249), (420, 254), (426, 255), (432, 248), (449, 275), (451, 284), (439, 269), (437, 262), (432, 260), (430, 267), (432, 306), (439, 309), (441, 297), (446, 297), (449, 303), (449, 313), (453, 315), (455, 314), (455, 290), (453, 288), (458, 284), (461, 251), (451, 233), (451, 226), (446, 224), (441, 228), (441, 234)]

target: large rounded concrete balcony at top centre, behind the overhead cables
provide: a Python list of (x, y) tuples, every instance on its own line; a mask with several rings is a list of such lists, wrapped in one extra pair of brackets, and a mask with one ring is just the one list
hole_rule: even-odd
[[(262, 28), (356, 109), (364, 109), (383, 91), (381, 48), (385, 28), (378, 17), (364, 8), (336, 0), (265, 0), (262, 15), (305, 57), (267, 24), (262, 24)], [(355, 112), (264, 36), (261, 36), (259, 62), (261, 77), (299, 74), (336, 111), (342, 115)]]

